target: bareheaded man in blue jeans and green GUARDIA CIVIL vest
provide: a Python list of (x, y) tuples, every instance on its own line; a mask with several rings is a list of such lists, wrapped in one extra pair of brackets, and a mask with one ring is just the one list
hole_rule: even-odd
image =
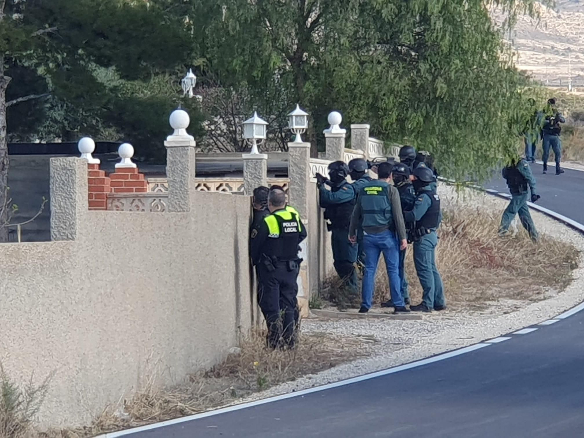
[(361, 291), (363, 302), (359, 313), (367, 313), (373, 305), (373, 286), (379, 256), (383, 252), (387, 276), (390, 280), (394, 313), (409, 313), (401, 296), (399, 278), (399, 250), (408, 246), (404, 216), (398, 190), (390, 185), (392, 165), (381, 163), (377, 180), (361, 188), (351, 217), (349, 240), (357, 241), (356, 231), (363, 228), (365, 272)]

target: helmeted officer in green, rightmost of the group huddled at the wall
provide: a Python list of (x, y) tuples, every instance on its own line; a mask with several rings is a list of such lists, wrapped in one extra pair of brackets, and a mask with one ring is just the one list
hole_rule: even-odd
[(444, 286), (436, 267), (436, 230), (442, 221), (440, 197), (432, 187), (434, 173), (426, 166), (418, 166), (413, 171), (413, 188), (417, 199), (404, 217), (406, 223), (415, 222), (413, 229), (413, 263), (423, 289), (422, 303), (412, 305), (415, 312), (445, 310)]

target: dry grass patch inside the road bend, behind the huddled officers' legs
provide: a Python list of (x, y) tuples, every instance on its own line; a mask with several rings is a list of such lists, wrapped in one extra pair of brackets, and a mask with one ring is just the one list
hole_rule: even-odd
[[(446, 208), (436, 251), (450, 308), (486, 308), (498, 300), (538, 301), (550, 290), (563, 290), (578, 267), (579, 251), (572, 245), (542, 235), (534, 244), (519, 225), (515, 236), (499, 238), (502, 211), (485, 208)], [(412, 246), (406, 256), (406, 275), (412, 303), (422, 299), (422, 288), (413, 265)], [(346, 299), (332, 277), (324, 298), (339, 308), (359, 307), (360, 297)], [(388, 300), (389, 288), (383, 259), (376, 277), (374, 304)], [(342, 303), (342, 306), (339, 306)]]

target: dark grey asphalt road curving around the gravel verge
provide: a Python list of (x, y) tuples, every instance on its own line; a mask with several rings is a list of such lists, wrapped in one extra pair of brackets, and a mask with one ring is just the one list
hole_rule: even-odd
[[(541, 175), (540, 204), (584, 223), (584, 172)], [(489, 188), (507, 192), (503, 181)], [(584, 311), (412, 369), (127, 435), (207, 437), (582, 437)]]

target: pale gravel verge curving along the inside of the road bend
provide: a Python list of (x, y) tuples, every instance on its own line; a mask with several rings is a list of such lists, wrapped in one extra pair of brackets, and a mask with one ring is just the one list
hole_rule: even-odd
[[(446, 204), (461, 199), (452, 187), (446, 185), (440, 187), (440, 196), (443, 203)], [(463, 193), (463, 199), (466, 205), (492, 208), (493, 213), (497, 215), (502, 213), (507, 204), (506, 200), (470, 190)], [(548, 234), (560, 241), (568, 242), (584, 253), (584, 237), (581, 234), (544, 214), (531, 211), (531, 215), (541, 234)], [(574, 280), (563, 292), (550, 291), (548, 295), (551, 297), (547, 300), (537, 303), (522, 303), (520, 310), (506, 313), (503, 311), (512, 307), (499, 301), (493, 303), (493, 306), (486, 311), (433, 312), (433, 314), (424, 315), (422, 321), (305, 319), (303, 321), (305, 333), (324, 332), (360, 339), (362, 342), (357, 349), (359, 352), (366, 352), (369, 357), (278, 385), (252, 395), (246, 401), (371, 373), (471, 345), (485, 339), (496, 338), (524, 326), (537, 324), (584, 301), (584, 263), (582, 260), (580, 260), (578, 269), (573, 271), (573, 277)], [(513, 304), (517, 304), (517, 301)], [(353, 344), (354, 342), (351, 343), (351, 348), (354, 349), (356, 347)]]

